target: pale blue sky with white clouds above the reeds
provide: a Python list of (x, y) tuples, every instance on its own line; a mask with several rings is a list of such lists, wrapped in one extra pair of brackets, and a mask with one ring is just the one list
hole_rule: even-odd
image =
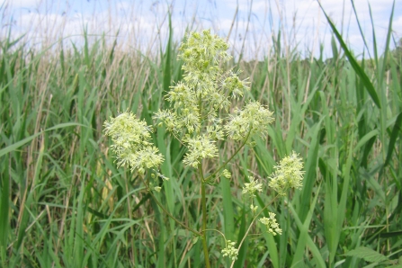
[[(373, 29), (383, 51), (393, 0), (320, 2), (356, 55), (372, 55)], [(241, 51), (246, 58), (261, 58), (281, 32), (282, 48), (289, 48), (283, 53), (296, 49), (318, 57), (323, 47), (324, 58), (332, 57), (332, 32), (317, 0), (0, 0), (0, 34), (11, 27), (14, 38), (25, 33), (24, 40), (32, 46), (51, 46), (58, 40), (79, 46), (86, 31), (94, 39), (117, 39), (121, 49), (152, 53), (165, 45), (169, 12), (177, 42), (188, 29), (211, 29), (228, 39), (235, 55)], [(394, 40), (402, 38), (402, 0), (395, 1), (392, 29)]]

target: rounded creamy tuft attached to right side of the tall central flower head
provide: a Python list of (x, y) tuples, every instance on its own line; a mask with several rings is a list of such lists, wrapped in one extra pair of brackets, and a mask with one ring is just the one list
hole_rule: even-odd
[(244, 140), (249, 137), (260, 136), (266, 138), (268, 135), (268, 124), (274, 121), (273, 112), (270, 112), (263, 104), (258, 102), (247, 103), (246, 106), (237, 112), (237, 115), (229, 116), (225, 130), (229, 138)]

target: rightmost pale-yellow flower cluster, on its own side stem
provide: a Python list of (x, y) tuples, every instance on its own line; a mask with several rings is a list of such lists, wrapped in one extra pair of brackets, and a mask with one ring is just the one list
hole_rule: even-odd
[(290, 188), (301, 189), (303, 185), (303, 162), (295, 152), (281, 159), (276, 171), (271, 175), (269, 186), (281, 195), (286, 195)]

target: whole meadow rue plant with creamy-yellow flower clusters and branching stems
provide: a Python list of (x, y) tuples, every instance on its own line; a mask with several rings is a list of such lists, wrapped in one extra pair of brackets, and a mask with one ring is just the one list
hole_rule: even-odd
[[(246, 102), (242, 108), (236, 108), (234, 114), (230, 114), (232, 103), (243, 97), (249, 90), (247, 79), (241, 80), (239, 72), (229, 70), (225, 72), (219, 64), (229, 60), (228, 44), (210, 31), (192, 32), (180, 47), (179, 58), (183, 59), (183, 81), (171, 87), (165, 99), (170, 107), (159, 110), (154, 119), (159, 127), (165, 126), (174, 138), (180, 140), (186, 147), (183, 156), (183, 165), (195, 170), (198, 183), (201, 187), (201, 226), (191, 228), (174, 218), (165, 209), (154, 192), (163, 192), (159, 184), (147, 182), (146, 173), (151, 170), (150, 177), (155, 181), (156, 176), (166, 180), (163, 174), (157, 172), (158, 166), (164, 161), (157, 147), (152, 144), (150, 133), (152, 128), (145, 121), (139, 121), (132, 112), (122, 112), (110, 121), (105, 121), (104, 132), (112, 138), (112, 151), (116, 155), (118, 166), (128, 166), (131, 171), (137, 171), (147, 190), (156, 203), (164, 210), (165, 214), (183, 228), (191, 231), (194, 236), (201, 237), (205, 266), (210, 267), (209, 244), (207, 231), (217, 231), (225, 240), (225, 246), (221, 250), (223, 256), (232, 260), (232, 266), (237, 260), (238, 250), (246, 239), (256, 219), (272, 204), (272, 201), (258, 210), (254, 205), (256, 194), (264, 192), (263, 183), (255, 180), (254, 176), (248, 177), (248, 183), (244, 183), (242, 193), (246, 201), (250, 201), (250, 210), (253, 219), (246, 231), (246, 235), (237, 245), (237, 242), (227, 240), (219, 230), (208, 229), (208, 210), (206, 202), (206, 184), (211, 183), (221, 175), (221, 179), (233, 178), (226, 168), (228, 162), (237, 155), (242, 147), (254, 146), (255, 138), (267, 138), (268, 125), (274, 121), (273, 113), (268, 107), (256, 101)], [(203, 166), (210, 160), (216, 161), (219, 156), (219, 143), (231, 139), (237, 145), (232, 156), (218, 161), (222, 163), (210, 175), (203, 174)], [(275, 173), (270, 177), (269, 186), (278, 192), (277, 196), (284, 195), (289, 188), (299, 189), (302, 185), (303, 171), (299, 155), (292, 153), (283, 158), (279, 165), (275, 166)], [(263, 217), (259, 221), (272, 235), (281, 235), (281, 228), (275, 219), (275, 214), (269, 212), (269, 218)]]

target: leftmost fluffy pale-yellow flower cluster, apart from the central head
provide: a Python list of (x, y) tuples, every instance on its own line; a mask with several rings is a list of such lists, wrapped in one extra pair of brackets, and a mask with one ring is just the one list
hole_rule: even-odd
[(122, 112), (104, 122), (104, 133), (112, 138), (112, 151), (118, 166), (130, 166), (144, 174), (146, 169), (164, 161), (157, 147), (152, 146), (151, 131), (145, 121), (139, 121), (132, 112)]

